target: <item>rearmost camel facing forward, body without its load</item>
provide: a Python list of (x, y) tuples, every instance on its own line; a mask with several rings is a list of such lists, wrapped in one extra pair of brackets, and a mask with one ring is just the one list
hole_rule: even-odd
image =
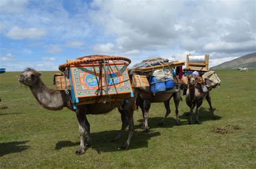
[(187, 76), (188, 78), (188, 90), (186, 91), (186, 103), (190, 107), (190, 120), (188, 124), (192, 124), (192, 113), (194, 107), (196, 107), (196, 124), (199, 124), (199, 107), (203, 104), (203, 99), (206, 98), (212, 112), (212, 118), (215, 119), (210, 91), (203, 92), (200, 84), (197, 82), (197, 77), (193, 74)]

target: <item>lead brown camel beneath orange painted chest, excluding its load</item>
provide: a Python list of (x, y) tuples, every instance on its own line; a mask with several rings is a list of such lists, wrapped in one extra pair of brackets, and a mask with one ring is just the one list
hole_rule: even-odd
[[(136, 94), (134, 94), (134, 97), (129, 98), (128, 103), (126, 101), (120, 101), (117, 102), (117, 104), (83, 104), (77, 105), (77, 109), (74, 110), (71, 103), (71, 96), (69, 94), (66, 94), (64, 90), (56, 91), (48, 89), (44, 85), (40, 76), (41, 73), (37, 72), (35, 69), (26, 68), (25, 72), (19, 75), (18, 80), (19, 82), (30, 88), (38, 103), (41, 104), (44, 108), (49, 110), (61, 110), (64, 107), (67, 107), (68, 109), (76, 112), (80, 132), (80, 146), (79, 149), (75, 152), (76, 154), (80, 155), (85, 153), (86, 147), (89, 147), (92, 144), (90, 135), (90, 124), (87, 121), (86, 115), (104, 114), (113, 110), (116, 107), (121, 114), (122, 129), (119, 131), (117, 137), (114, 138), (114, 141), (120, 139), (127, 125), (129, 125), (129, 136), (125, 144), (122, 146), (122, 149), (129, 149), (131, 137), (134, 131), (133, 110), (136, 106)], [(85, 131), (87, 133), (86, 143)]]

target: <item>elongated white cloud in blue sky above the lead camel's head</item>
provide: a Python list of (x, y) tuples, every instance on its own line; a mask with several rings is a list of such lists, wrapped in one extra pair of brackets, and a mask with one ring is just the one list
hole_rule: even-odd
[(43, 29), (37, 29), (35, 27), (31, 27), (29, 29), (22, 29), (18, 26), (12, 27), (5, 36), (15, 40), (21, 39), (39, 39), (41, 36), (44, 36), (46, 31)]

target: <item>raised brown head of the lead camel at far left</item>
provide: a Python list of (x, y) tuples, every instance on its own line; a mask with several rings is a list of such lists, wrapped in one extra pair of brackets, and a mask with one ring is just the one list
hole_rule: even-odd
[(19, 82), (26, 85), (33, 87), (37, 84), (38, 80), (40, 79), (41, 73), (37, 72), (35, 69), (26, 68), (25, 72), (19, 75)]

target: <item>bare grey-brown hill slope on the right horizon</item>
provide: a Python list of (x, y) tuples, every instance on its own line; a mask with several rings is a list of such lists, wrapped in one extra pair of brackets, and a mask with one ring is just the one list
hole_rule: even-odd
[(237, 69), (239, 67), (256, 69), (256, 52), (246, 54), (231, 61), (224, 62), (217, 66), (211, 67), (211, 69)]

